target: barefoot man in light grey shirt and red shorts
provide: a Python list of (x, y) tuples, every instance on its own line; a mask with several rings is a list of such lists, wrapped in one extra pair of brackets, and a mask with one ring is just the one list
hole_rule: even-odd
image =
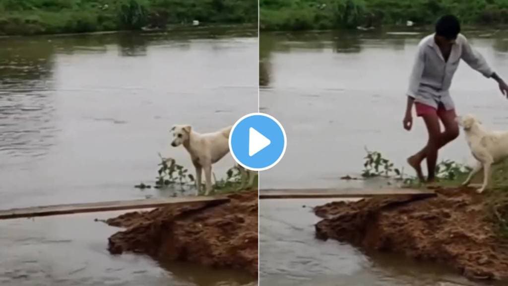
[[(411, 109), (415, 105), (417, 116), (423, 118), (427, 127), (429, 134), (427, 145), (407, 158), (407, 162), (415, 168), (421, 182), (425, 182), (422, 161), (427, 158), (427, 182), (433, 182), (438, 150), (459, 135), (459, 126), (455, 122), (455, 106), (449, 89), (460, 60), (485, 77), (493, 78), (499, 84), (501, 93), (504, 96), (508, 95), (508, 85), (491, 70), (483, 56), (474, 51), (467, 39), (460, 34), (457, 17), (446, 15), (439, 18), (435, 33), (425, 37), (418, 45), (403, 120), (404, 128), (411, 130)], [(444, 126), (442, 132), (439, 120)]]

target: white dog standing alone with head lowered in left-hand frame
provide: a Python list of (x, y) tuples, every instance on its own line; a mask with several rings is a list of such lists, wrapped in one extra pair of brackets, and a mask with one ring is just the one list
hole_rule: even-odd
[[(204, 134), (194, 132), (190, 125), (175, 125), (171, 128), (174, 137), (171, 146), (177, 147), (183, 145), (196, 168), (196, 188), (198, 193), (201, 189), (201, 174), (203, 170), (205, 172), (206, 195), (212, 190), (212, 164), (229, 153), (229, 134), (231, 128), (232, 126), (228, 126), (219, 131)], [(237, 165), (237, 167), (242, 176), (241, 188), (244, 187), (247, 177), (249, 179), (249, 186), (252, 186), (255, 177), (252, 171), (247, 171), (240, 165)]]

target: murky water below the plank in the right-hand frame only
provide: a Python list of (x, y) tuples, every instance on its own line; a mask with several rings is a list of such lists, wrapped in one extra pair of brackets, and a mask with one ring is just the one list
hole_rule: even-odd
[(418, 263), (393, 254), (367, 255), (347, 243), (316, 240), (313, 225), (320, 218), (311, 212), (311, 207), (327, 202), (325, 199), (261, 201), (261, 285), (477, 285), (439, 265)]

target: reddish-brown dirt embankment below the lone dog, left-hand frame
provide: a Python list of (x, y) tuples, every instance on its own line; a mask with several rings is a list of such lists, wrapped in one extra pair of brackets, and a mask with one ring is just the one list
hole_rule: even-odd
[(133, 212), (107, 220), (126, 227), (109, 238), (109, 251), (195, 262), (258, 273), (258, 192), (228, 196), (215, 207), (193, 204)]

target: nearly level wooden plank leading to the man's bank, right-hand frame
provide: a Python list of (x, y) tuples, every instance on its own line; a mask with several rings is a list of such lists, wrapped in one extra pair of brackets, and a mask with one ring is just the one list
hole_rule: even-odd
[(265, 189), (259, 191), (260, 199), (282, 198), (354, 198), (380, 195), (434, 196), (430, 189)]

